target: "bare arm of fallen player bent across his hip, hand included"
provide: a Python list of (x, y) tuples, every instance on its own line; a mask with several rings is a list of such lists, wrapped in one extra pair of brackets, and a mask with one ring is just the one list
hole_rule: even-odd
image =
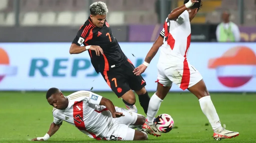
[(118, 118), (118, 117), (124, 116), (123, 113), (115, 111), (115, 106), (107, 98), (102, 97), (102, 99), (100, 101), (100, 105), (106, 106), (106, 108), (108, 108), (108, 110), (111, 112), (113, 118)]

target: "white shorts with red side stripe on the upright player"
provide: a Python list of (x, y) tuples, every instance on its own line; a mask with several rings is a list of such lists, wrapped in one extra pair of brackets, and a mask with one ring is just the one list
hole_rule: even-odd
[(163, 86), (171, 86), (172, 83), (175, 83), (182, 90), (185, 90), (202, 80), (199, 71), (188, 62), (158, 62), (157, 69), (158, 74), (156, 82)]

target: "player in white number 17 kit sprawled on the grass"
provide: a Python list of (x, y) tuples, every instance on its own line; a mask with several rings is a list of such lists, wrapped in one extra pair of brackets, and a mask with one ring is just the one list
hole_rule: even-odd
[(115, 107), (110, 100), (98, 94), (78, 91), (64, 96), (59, 89), (50, 88), (46, 98), (54, 106), (54, 120), (46, 135), (34, 138), (33, 141), (48, 140), (60, 128), (63, 120), (97, 140), (147, 140), (144, 131), (128, 127), (143, 125), (144, 116)]

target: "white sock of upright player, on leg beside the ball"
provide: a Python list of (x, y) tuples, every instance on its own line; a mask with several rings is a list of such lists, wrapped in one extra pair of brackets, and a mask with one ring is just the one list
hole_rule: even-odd
[(156, 93), (150, 98), (148, 109), (147, 109), (147, 121), (149, 122), (149, 125), (153, 125), (154, 117), (156, 116), (156, 113), (161, 105), (161, 102), (163, 100), (160, 99)]

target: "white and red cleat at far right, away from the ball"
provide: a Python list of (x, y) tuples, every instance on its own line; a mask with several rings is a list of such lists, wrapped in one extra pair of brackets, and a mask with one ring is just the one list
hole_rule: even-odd
[(239, 135), (238, 132), (229, 131), (229, 130), (226, 130), (225, 128), (226, 128), (226, 125), (223, 124), (223, 128), (213, 133), (213, 138), (215, 140), (221, 140), (221, 139), (233, 138)]

